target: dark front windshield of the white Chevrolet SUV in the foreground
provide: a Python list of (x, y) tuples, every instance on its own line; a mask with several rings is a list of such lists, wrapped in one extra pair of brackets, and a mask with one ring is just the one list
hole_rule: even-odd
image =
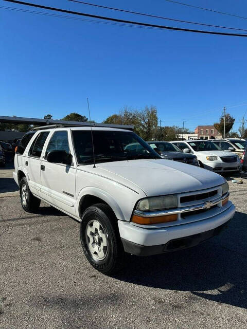
[[(72, 131), (79, 163), (93, 163), (90, 130)], [(93, 130), (95, 162), (133, 159), (160, 159), (161, 157), (139, 136), (127, 131)]]

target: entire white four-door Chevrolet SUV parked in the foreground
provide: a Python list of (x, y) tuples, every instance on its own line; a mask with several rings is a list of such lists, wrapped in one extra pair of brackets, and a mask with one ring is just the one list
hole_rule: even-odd
[[(128, 150), (131, 143), (140, 147)], [(124, 251), (152, 255), (195, 246), (235, 213), (223, 177), (162, 159), (132, 131), (30, 132), (14, 165), (23, 209), (34, 212), (44, 200), (76, 218), (87, 260), (104, 273), (119, 269)]]

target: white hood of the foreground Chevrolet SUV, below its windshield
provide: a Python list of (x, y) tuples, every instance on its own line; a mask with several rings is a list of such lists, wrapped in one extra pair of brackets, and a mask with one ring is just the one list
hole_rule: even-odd
[(99, 163), (83, 170), (142, 190), (147, 196), (183, 193), (219, 186), (225, 179), (209, 170), (165, 159)]

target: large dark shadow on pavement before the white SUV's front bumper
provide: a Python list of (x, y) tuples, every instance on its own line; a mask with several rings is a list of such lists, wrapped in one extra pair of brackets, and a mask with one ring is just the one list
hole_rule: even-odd
[(246, 250), (247, 214), (236, 212), (221, 235), (197, 247), (147, 258), (127, 255), (128, 265), (114, 278), (247, 308)]

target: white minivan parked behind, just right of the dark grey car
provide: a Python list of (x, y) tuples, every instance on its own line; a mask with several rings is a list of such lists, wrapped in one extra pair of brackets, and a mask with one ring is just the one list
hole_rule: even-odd
[(202, 168), (219, 173), (240, 169), (239, 156), (233, 152), (223, 151), (213, 141), (199, 139), (171, 141), (171, 143), (183, 152), (195, 154)]

